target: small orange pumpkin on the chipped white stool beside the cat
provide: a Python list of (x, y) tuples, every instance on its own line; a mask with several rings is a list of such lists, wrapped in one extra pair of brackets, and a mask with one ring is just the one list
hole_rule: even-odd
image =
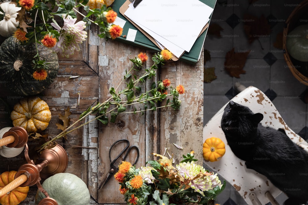
[(203, 158), (207, 161), (218, 161), (225, 152), (225, 143), (220, 138), (211, 137), (203, 143)]

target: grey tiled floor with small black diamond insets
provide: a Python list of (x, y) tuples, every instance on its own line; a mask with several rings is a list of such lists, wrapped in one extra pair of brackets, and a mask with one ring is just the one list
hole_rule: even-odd
[[(204, 84), (204, 123), (234, 97), (235, 82), (246, 87), (253, 85), (263, 91), (274, 103), (286, 124), (305, 140), (308, 139), (307, 104), (303, 100), (307, 86), (300, 83), (291, 73), (283, 57), (283, 50), (273, 46), (276, 35), (283, 31), (285, 20), (301, 1), (258, 0), (249, 5), (248, 0), (218, 0), (211, 23), (223, 28), (221, 37), (207, 35), (204, 49), (209, 50), (211, 60), (205, 68), (215, 67), (217, 79)], [(244, 14), (258, 18), (264, 15), (271, 26), (271, 33), (266, 37), (248, 43), (244, 32)], [(263, 47), (263, 49), (262, 49)], [(251, 50), (245, 63), (245, 74), (240, 78), (230, 77), (224, 71), (226, 53), (234, 48), (235, 52)], [(278, 196), (279, 203), (286, 199)], [(247, 204), (237, 191), (227, 184), (225, 191), (218, 196), (217, 203), (224, 205)]]

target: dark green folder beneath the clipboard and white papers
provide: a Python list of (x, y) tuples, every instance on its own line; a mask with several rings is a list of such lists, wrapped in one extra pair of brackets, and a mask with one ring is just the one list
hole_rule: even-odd
[[(189, 1), (189, 0), (188, 0)], [(211, 8), (215, 7), (216, 0), (200, 0), (201, 2), (205, 3), (206, 5), (210, 6)], [(134, 26), (131, 22), (129, 22), (121, 13), (120, 13), (120, 7), (126, 2), (126, 0), (115, 0), (112, 5), (112, 9), (118, 14), (118, 16), (124, 20), (126, 20), (126, 23), (123, 28), (123, 33), (121, 37), (116, 38), (116, 40), (121, 41), (123, 43), (135, 45), (138, 47), (142, 47), (145, 49), (154, 50), (155, 52), (160, 51), (160, 48), (158, 48), (148, 37), (146, 37), (136, 26)], [(210, 18), (212, 15), (210, 16)], [(128, 29), (134, 29), (137, 30), (135, 41), (127, 41), (126, 38), (124, 38), (124, 35), (127, 35)], [(203, 48), (203, 44), (205, 41), (205, 36), (207, 33), (206, 29), (196, 40), (194, 43), (192, 49), (190, 52), (185, 52), (181, 57), (180, 61), (184, 61), (186, 63), (190, 63), (195, 65), (200, 58), (201, 50)]]

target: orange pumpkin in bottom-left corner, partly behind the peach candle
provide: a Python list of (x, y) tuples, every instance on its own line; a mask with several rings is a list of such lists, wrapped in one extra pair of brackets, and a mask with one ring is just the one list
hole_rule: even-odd
[[(0, 189), (14, 180), (17, 171), (5, 171), (0, 175)], [(17, 205), (26, 199), (29, 187), (17, 187), (6, 195), (0, 196), (0, 203), (2, 205)]]

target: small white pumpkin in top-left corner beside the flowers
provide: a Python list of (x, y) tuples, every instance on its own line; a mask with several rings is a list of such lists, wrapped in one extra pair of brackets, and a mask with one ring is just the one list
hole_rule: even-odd
[[(16, 30), (19, 22), (16, 22), (17, 11), (21, 10), (21, 7), (10, 4), (10, 2), (4, 2), (0, 4), (1, 9), (5, 15), (2, 21), (0, 21), (0, 35), (3, 37), (10, 37)], [(3, 14), (0, 12), (0, 14)]]

